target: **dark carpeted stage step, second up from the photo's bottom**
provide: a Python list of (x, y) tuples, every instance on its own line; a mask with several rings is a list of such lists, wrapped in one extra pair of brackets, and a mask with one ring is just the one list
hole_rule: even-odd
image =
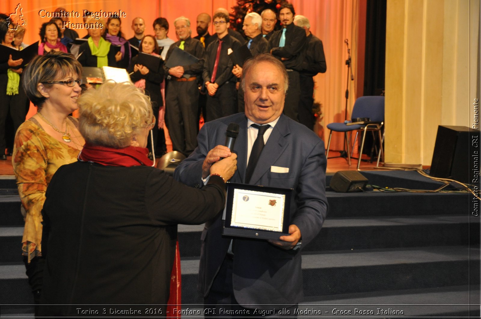
[[(478, 284), (479, 249), (436, 246), (324, 252), (303, 256), (304, 295), (336, 295)], [(199, 259), (182, 259), (182, 302), (202, 302), (197, 292)], [(0, 300), (31, 298), (23, 264), (0, 266)]]

